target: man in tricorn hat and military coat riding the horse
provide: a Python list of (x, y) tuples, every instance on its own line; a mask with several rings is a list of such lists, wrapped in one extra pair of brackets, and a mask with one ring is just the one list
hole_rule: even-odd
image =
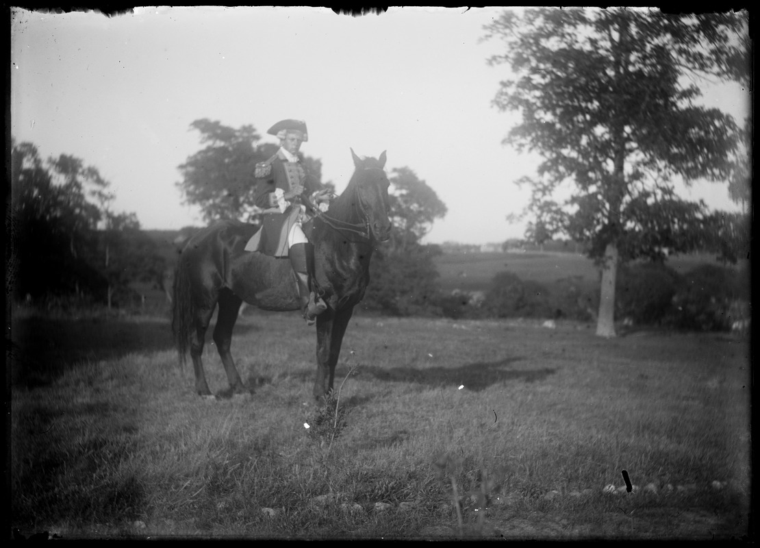
[(255, 204), (264, 209), (263, 226), (259, 231), (258, 245), (245, 249), (258, 250), (273, 257), (290, 256), (290, 264), (296, 273), (301, 311), (308, 325), (325, 312), (327, 305), (315, 294), (310, 283), (309, 271), (313, 268), (314, 248), (306, 238), (302, 223), (309, 220), (306, 201), (310, 198), (321, 211), (326, 211), (329, 190), (306, 171), (299, 157), (304, 141), (309, 140), (306, 123), (300, 120), (281, 120), (267, 131), (280, 139), (280, 150), (255, 167)]

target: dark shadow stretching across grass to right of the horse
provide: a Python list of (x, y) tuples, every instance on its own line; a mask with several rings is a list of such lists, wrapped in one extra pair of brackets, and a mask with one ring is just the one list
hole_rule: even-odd
[(424, 368), (363, 366), (359, 374), (369, 374), (382, 382), (405, 382), (427, 388), (464, 386), (480, 392), (492, 385), (505, 382), (539, 382), (553, 375), (556, 369), (513, 369), (512, 364), (522, 358), (512, 357), (495, 362), (465, 363), (459, 367), (432, 366)]

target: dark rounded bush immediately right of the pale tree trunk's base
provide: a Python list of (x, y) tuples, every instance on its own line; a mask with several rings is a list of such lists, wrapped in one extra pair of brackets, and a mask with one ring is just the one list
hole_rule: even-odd
[(617, 278), (617, 316), (635, 324), (660, 323), (670, 312), (679, 278), (659, 261), (623, 265)]

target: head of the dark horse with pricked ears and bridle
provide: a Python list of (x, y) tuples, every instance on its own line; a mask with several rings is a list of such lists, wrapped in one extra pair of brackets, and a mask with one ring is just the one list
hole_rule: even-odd
[(388, 200), (388, 175), (385, 173), (385, 150), (380, 157), (359, 158), (351, 149), (353, 165), (356, 166), (354, 180), (359, 209), (365, 216), (366, 224), (378, 242), (385, 242), (391, 237), (391, 219), (388, 217), (390, 202)]

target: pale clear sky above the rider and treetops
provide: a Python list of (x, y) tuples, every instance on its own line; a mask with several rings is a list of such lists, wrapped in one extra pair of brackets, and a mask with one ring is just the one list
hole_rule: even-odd
[[(351, 17), (328, 8), (153, 7), (11, 14), (11, 135), (40, 157), (70, 154), (111, 183), (116, 211), (146, 230), (202, 226), (183, 204), (178, 166), (201, 150), (190, 124), (253, 125), (260, 143), (281, 119), (302, 119), (301, 151), (322, 162), (342, 191), (350, 149), (386, 169), (407, 166), (448, 207), (423, 240), (483, 244), (520, 238), (506, 216), (527, 204), (514, 182), (535, 175), (537, 157), (502, 144), (515, 113), (492, 100), (506, 65), (480, 40), (503, 8), (390, 8)], [(705, 87), (705, 103), (749, 109), (738, 86)], [(682, 191), (738, 209), (727, 185)]]

